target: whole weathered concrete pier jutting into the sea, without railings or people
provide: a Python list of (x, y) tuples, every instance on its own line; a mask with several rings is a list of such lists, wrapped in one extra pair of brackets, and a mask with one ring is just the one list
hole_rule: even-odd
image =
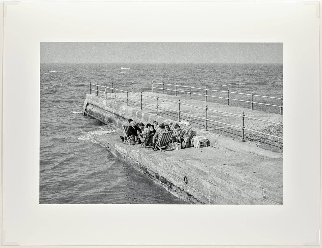
[[(152, 97), (157, 95), (156, 93), (144, 94)], [(118, 96), (122, 97), (122, 93), (118, 93)], [(151, 106), (146, 105), (143, 110), (140, 110), (140, 103), (130, 102), (128, 106), (126, 93), (123, 97), (125, 102), (124, 100), (115, 102), (115, 99), (87, 94), (84, 102), (84, 114), (120, 130), (119, 133), (96, 137), (97, 141), (107, 147), (109, 152), (133, 164), (142, 173), (147, 174), (152, 180), (188, 203), (283, 204), (283, 155), (281, 152), (262, 149), (257, 144), (242, 142), (239, 138), (219, 135), (213, 132), (215, 129), (205, 131), (201, 123), (193, 123), (193, 121), (191, 121), (193, 134), (206, 136), (211, 146), (203, 146), (200, 149), (190, 147), (160, 153), (160, 151), (140, 148), (138, 145), (123, 144), (119, 138), (119, 134), (122, 133), (120, 128), (128, 118), (143, 123), (151, 123), (154, 120), (159, 123), (164, 120), (177, 121), (169, 118), (171, 115), (175, 116), (175, 113), (160, 111), (161, 116), (156, 115), (155, 108), (151, 107), (154, 103), (153, 98), (150, 101)], [(168, 95), (160, 95), (160, 97), (175, 98)], [(196, 106), (208, 103), (182, 97), (180, 99), (182, 102)], [(144, 102), (147, 101), (147, 99), (144, 100)], [(194, 101), (194, 104), (191, 101)], [(169, 102), (160, 101), (159, 106), (174, 109), (175, 102), (171, 106)], [(227, 112), (243, 111), (236, 107), (208, 103), (208, 108), (215, 107), (216, 109), (225, 108)], [(181, 111), (193, 112), (196, 116), (202, 115), (200, 111), (195, 111), (189, 106), (183, 107)], [(265, 120), (282, 123), (282, 117), (276, 114), (261, 111), (250, 112), (252, 116), (260, 117), (259, 119), (265, 118)], [(236, 122), (237, 124), (240, 121), (220, 114), (212, 118), (214, 117), (226, 123)], [(267, 125), (269, 123), (253, 121), (248, 126), (254, 130), (261, 130)]]

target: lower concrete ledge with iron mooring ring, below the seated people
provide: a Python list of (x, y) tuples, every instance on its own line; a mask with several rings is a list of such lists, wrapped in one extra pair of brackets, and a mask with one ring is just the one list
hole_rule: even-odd
[(120, 143), (119, 134), (100, 135), (96, 140), (189, 203), (283, 203), (281, 157), (267, 158), (212, 146), (161, 153)]

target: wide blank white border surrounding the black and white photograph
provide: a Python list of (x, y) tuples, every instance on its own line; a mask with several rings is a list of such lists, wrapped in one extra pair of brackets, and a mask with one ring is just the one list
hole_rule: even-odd
[[(318, 8), (302, 2), (5, 3), (2, 245), (318, 245)], [(40, 206), (41, 41), (283, 42), (284, 205)], [(312, 83), (305, 88), (303, 82)], [(296, 122), (299, 115), (310, 128)]]

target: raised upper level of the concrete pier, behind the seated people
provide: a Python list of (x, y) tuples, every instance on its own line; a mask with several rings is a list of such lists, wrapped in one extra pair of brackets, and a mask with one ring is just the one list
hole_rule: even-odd
[[(144, 93), (144, 94), (155, 96), (155, 97), (157, 96), (156, 93)], [(124, 95), (123, 93), (122, 95), (122, 93), (118, 93), (118, 96), (126, 97), (126, 94)], [(168, 98), (168, 100), (174, 100), (174, 98), (176, 99), (178, 97), (162, 95), (162, 98), (163, 99)], [(137, 100), (139, 100), (139, 96), (137, 96)], [(154, 99), (145, 98), (142, 100), (145, 102), (150, 101), (150, 103), (152, 104)], [(197, 106), (198, 104), (200, 106), (201, 104), (204, 103), (202, 101), (192, 100), (192, 99), (184, 99), (184, 102), (187, 102), (188, 104), (195, 104)], [(162, 102), (162, 100), (159, 100), (159, 106), (163, 106), (166, 108), (175, 109), (175, 104), (176, 103)], [(184, 106), (184, 107), (182, 106), (181, 106), (181, 111), (183, 112), (186, 112), (186, 113), (189, 112), (196, 116), (198, 115), (203, 116), (202, 111), (198, 109), (195, 109), (189, 106)], [(238, 107), (220, 105), (215, 103), (211, 103), (208, 105), (209, 108), (214, 108), (214, 106), (217, 106), (216, 107), (217, 110), (228, 111), (232, 113), (238, 113), (242, 110)], [(176, 122), (176, 120), (165, 118), (166, 115), (165, 117), (156, 115), (153, 113), (151, 109), (147, 109), (146, 107), (144, 108), (144, 110), (141, 111), (140, 107), (137, 105), (127, 106), (126, 103), (124, 104), (123, 102), (115, 102), (115, 99), (105, 99), (93, 94), (86, 94), (83, 111), (85, 114), (91, 116), (92, 118), (96, 118), (112, 127), (118, 127), (118, 128), (121, 128), (122, 123), (129, 118), (134, 119), (137, 122), (143, 122), (143, 123), (147, 123), (147, 122), (152, 123), (154, 120), (158, 121), (159, 123), (165, 120)], [(231, 123), (232, 125), (240, 125), (238, 124), (238, 122), (241, 121), (240, 117), (234, 117), (234, 116), (232, 117), (232, 116), (227, 116), (225, 114), (220, 114), (220, 113), (216, 113), (216, 114), (217, 114), (217, 117), (216, 117), (217, 121), (228, 122), (228, 123)], [(264, 113), (262, 111), (252, 110), (251, 114), (248, 114), (248, 116), (282, 123), (282, 117), (280, 115), (276, 115), (272, 113)], [(208, 115), (208, 118), (210, 118), (209, 115)], [(251, 120), (248, 120), (248, 121), (251, 121)], [(269, 125), (270, 125), (269, 123), (258, 122), (254, 120), (254, 121), (251, 121), (249, 123), (249, 126), (247, 127), (252, 128), (254, 130), (260, 130), (261, 128)], [(231, 137), (218, 135), (216, 133), (213, 133), (211, 130), (205, 131), (200, 124), (192, 123), (192, 131), (197, 136), (204, 135), (205, 137), (207, 137), (207, 139), (210, 141), (211, 146), (216, 146), (216, 147), (223, 146), (236, 152), (250, 152), (250, 153), (254, 153), (257, 155), (266, 156), (270, 158), (277, 158), (277, 157), (283, 156), (282, 153), (276, 153), (265, 149), (261, 149), (254, 143), (242, 142), (240, 139), (234, 139)]]

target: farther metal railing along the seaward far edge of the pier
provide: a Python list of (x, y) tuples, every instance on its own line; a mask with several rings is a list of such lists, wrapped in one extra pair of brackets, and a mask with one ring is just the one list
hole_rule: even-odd
[[(253, 109), (253, 105), (255, 104), (260, 104), (260, 105), (266, 105), (266, 106), (273, 106), (273, 107), (279, 107), (279, 114), (282, 115), (282, 109), (283, 109), (283, 96), (281, 97), (272, 97), (272, 96), (262, 96), (262, 95), (255, 95), (253, 92), (251, 94), (247, 94), (247, 93), (239, 93), (239, 92), (232, 92), (229, 91), (229, 89), (227, 91), (221, 91), (221, 90), (212, 90), (212, 89), (208, 89), (207, 87), (205, 88), (198, 88), (198, 87), (191, 87), (191, 84), (189, 86), (186, 85), (178, 85), (178, 84), (165, 84), (163, 83), (155, 83), (154, 81), (151, 82), (152, 84), (152, 92), (154, 92), (154, 89), (159, 89), (162, 90), (162, 93), (164, 94), (164, 91), (174, 91), (175, 92), (175, 96), (177, 96), (177, 93), (189, 93), (190, 95), (190, 99), (191, 99), (191, 95), (200, 95), (200, 96), (204, 96), (205, 97), (205, 101), (207, 102), (207, 97), (213, 97), (213, 98), (220, 98), (220, 99), (226, 99), (227, 100), (227, 105), (229, 105), (229, 101), (239, 101), (239, 102), (249, 102), (250, 103), (250, 107), (251, 110)], [(155, 84), (159, 84), (162, 85), (162, 88), (160, 87), (155, 87)], [(169, 88), (165, 88), (165, 85), (168, 86), (174, 86), (174, 89), (169, 89)], [(178, 87), (182, 87), (182, 88), (189, 88), (189, 91), (183, 91), (183, 90), (178, 90)], [(196, 93), (196, 92), (192, 92), (192, 89), (197, 89), (197, 90), (204, 90), (204, 94), (200, 94), (200, 93)], [(210, 95), (210, 92), (220, 92), (220, 93), (227, 93), (227, 97), (222, 97), (222, 96), (213, 96)], [(236, 94), (236, 95), (244, 95), (244, 96), (250, 96), (250, 101), (247, 100), (241, 100), (241, 99), (235, 99), (232, 98), (231, 94)], [(268, 103), (263, 103), (263, 102), (255, 102), (254, 101), (254, 96), (255, 97), (262, 97), (262, 98), (268, 98), (268, 99), (278, 99), (279, 100), (279, 105), (275, 105), (275, 104), (268, 104)]]

